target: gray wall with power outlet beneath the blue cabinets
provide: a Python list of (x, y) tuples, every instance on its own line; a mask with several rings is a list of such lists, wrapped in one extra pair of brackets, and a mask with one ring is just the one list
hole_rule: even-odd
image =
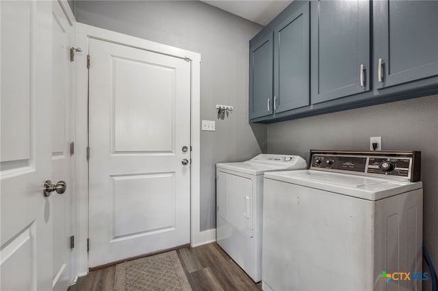
[(382, 137), (383, 150), (422, 152), (423, 237), (437, 268), (438, 95), (270, 124), (268, 152), (309, 161), (311, 149), (368, 150), (370, 137)]

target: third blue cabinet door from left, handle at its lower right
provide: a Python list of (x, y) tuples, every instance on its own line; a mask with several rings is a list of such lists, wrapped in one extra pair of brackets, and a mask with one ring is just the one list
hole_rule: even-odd
[(311, 102), (370, 89), (370, 2), (311, 1)]

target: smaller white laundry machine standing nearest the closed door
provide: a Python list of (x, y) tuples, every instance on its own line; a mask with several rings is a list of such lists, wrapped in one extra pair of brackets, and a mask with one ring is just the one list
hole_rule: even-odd
[(306, 168), (300, 156), (283, 154), (216, 165), (216, 240), (255, 282), (261, 280), (263, 174)]

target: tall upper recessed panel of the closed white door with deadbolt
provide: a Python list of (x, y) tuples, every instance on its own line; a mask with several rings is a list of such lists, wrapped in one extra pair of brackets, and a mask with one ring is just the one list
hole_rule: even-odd
[(113, 66), (114, 152), (175, 152), (175, 87), (144, 82), (174, 84), (174, 68), (118, 57)]

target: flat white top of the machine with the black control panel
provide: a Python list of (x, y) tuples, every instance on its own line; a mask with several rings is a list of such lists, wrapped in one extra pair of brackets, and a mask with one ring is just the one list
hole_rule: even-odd
[(422, 182), (402, 182), (313, 170), (274, 171), (266, 173), (265, 178), (371, 201), (423, 187)]

